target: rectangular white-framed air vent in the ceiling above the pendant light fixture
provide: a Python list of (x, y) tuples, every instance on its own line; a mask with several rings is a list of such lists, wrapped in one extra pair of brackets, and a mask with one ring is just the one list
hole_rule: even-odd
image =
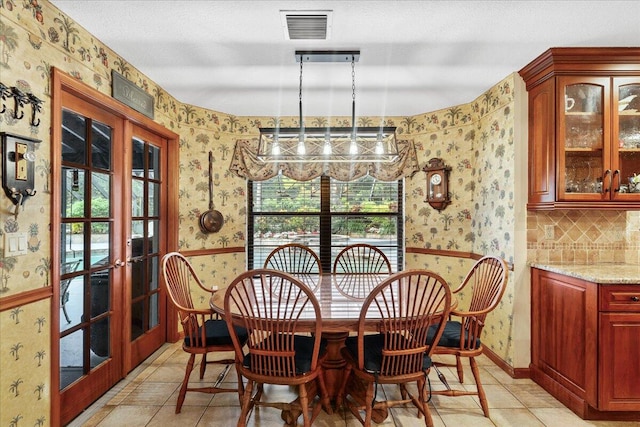
[(281, 10), (284, 36), (288, 40), (328, 40), (331, 10)]

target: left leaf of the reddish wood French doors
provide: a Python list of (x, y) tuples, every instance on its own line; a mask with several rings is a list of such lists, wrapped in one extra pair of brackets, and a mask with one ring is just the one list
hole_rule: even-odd
[(67, 93), (62, 98), (60, 312), (54, 339), (64, 424), (123, 377), (126, 248), (120, 236), (126, 210), (120, 197), (122, 120)]

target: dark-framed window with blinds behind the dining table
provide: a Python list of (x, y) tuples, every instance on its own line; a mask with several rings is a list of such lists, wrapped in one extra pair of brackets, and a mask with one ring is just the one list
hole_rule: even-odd
[(248, 188), (248, 267), (261, 268), (279, 245), (300, 243), (316, 251), (331, 271), (345, 246), (369, 243), (403, 265), (402, 180), (364, 176), (351, 182), (327, 176), (296, 181), (278, 175), (250, 181)]

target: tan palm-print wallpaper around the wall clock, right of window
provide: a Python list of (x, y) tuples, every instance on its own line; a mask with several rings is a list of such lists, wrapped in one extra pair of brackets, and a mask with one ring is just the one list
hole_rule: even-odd
[[(514, 261), (514, 78), (506, 77), (473, 102), (412, 118), (419, 161), (441, 157), (453, 169), (452, 203), (438, 212), (424, 203), (424, 174), (407, 183), (407, 247), (497, 255)], [(457, 287), (474, 261), (411, 254), (408, 268), (430, 268)], [(513, 283), (487, 318), (482, 340), (513, 365)], [(469, 292), (458, 295), (465, 307)]]

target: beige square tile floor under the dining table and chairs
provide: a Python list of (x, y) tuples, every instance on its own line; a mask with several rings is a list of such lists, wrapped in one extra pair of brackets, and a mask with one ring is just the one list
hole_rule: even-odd
[[(240, 409), (237, 397), (233, 393), (218, 395), (187, 393), (182, 412), (175, 414), (175, 404), (184, 375), (187, 355), (180, 343), (165, 344), (152, 357), (146, 360), (124, 380), (100, 398), (95, 404), (80, 414), (71, 427), (136, 427), (136, 426), (231, 426), (235, 425)], [(620, 426), (640, 427), (640, 422), (584, 421), (560, 402), (546, 393), (529, 379), (513, 379), (497, 367), (488, 358), (478, 360), (481, 365), (481, 377), (491, 408), (491, 419), (485, 418), (475, 396), (446, 397), (434, 396), (431, 404), (434, 425), (436, 427), (582, 427), (582, 426)], [(197, 366), (196, 366), (197, 368)], [(209, 365), (205, 380), (215, 381), (224, 367)], [(463, 387), (455, 380), (455, 369), (441, 368), (453, 388)], [(223, 382), (235, 387), (235, 370), (228, 371)], [(198, 379), (197, 369), (192, 378)], [(431, 384), (442, 387), (432, 370)], [(466, 381), (473, 383), (471, 372), (465, 372)], [(273, 396), (294, 396), (287, 387), (274, 387), (265, 391)], [(384, 386), (384, 393), (395, 393), (397, 387)], [(300, 418), (299, 423), (302, 423)], [(262, 407), (254, 409), (249, 419), (250, 426), (283, 426), (280, 411)], [(316, 426), (358, 426), (360, 423), (350, 412), (338, 411), (328, 415), (320, 413)], [(374, 424), (375, 425), (375, 424)], [(395, 407), (383, 426), (419, 426), (423, 419), (416, 418), (413, 406)]]

